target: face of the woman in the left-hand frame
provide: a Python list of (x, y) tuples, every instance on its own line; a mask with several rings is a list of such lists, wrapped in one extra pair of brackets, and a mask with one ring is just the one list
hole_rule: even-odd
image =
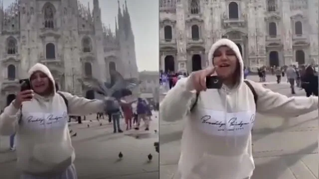
[(44, 94), (50, 87), (49, 78), (40, 71), (34, 72), (30, 78), (32, 89), (35, 93)]

